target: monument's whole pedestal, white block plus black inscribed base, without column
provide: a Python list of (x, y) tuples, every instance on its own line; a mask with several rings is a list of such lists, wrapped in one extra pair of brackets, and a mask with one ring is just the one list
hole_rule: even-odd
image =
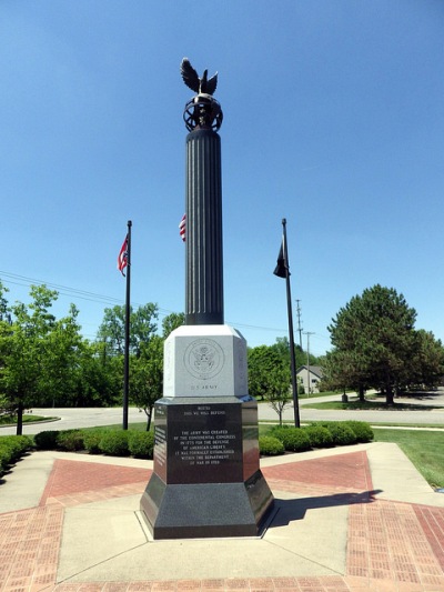
[(259, 466), (245, 340), (228, 325), (173, 331), (163, 394), (154, 472), (141, 500), (153, 538), (258, 535), (273, 495)]

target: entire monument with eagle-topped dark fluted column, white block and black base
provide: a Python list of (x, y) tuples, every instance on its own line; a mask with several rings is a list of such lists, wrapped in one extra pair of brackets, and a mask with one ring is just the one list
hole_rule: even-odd
[(186, 58), (185, 324), (164, 344), (163, 398), (154, 408), (154, 470), (141, 499), (153, 539), (256, 536), (273, 505), (260, 470), (258, 403), (246, 342), (224, 324), (222, 109), (218, 74)]

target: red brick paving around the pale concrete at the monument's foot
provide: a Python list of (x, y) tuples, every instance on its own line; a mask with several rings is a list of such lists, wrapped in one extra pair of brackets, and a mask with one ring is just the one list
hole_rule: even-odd
[(444, 509), (372, 500), (365, 452), (263, 470), (274, 491), (347, 494), (346, 574), (56, 584), (64, 506), (141, 493), (150, 471), (57, 460), (40, 506), (0, 514), (1, 592), (444, 592)]

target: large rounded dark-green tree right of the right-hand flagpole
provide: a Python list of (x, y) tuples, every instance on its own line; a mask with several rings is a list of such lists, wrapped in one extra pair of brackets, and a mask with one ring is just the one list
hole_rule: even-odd
[(416, 311), (393, 288), (376, 284), (353, 297), (329, 327), (334, 348), (329, 368), (337, 383), (381, 389), (393, 404), (414, 353), (415, 319)]

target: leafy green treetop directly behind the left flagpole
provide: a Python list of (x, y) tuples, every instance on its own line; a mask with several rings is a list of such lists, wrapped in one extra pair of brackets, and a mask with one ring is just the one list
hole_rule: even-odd
[[(130, 352), (140, 355), (143, 343), (148, 343), (157, 331), (158, 305), (149, 302), (137, 310), (130, 308)], [(125, 307), (104, 309), (99, 327), (98, 340), (108, 343), (115, 354), (123, 354), (125, 337)]]

